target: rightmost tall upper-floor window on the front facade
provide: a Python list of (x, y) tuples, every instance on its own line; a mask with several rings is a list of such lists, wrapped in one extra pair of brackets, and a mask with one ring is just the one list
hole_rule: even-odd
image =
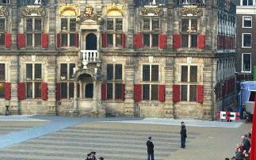
[(197, 18), (181, 19), (182, 48), (197, 48)]

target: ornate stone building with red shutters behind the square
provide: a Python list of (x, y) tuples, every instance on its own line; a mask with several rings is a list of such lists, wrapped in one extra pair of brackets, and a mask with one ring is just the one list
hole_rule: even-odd
[(0, 112), (212, 120), (235, 101), (233, 1), (1, 1)]

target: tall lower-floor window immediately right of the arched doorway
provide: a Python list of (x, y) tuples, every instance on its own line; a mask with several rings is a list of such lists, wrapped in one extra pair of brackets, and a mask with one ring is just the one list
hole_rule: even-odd
[(122, 99), (123, 65), (120, 63), (107, 64), (107, 99)]

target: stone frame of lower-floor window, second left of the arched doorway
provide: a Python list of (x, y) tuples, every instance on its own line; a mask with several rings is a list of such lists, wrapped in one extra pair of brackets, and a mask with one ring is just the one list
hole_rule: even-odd
[[(32, 64), (32, 79), (31, 78), (27, 78), (27, 64)], [(35, 78), (36, 75), (36, 67), (35, 64), (41, 64), (41, 78)], [(36, 89), (36, 85), (38, 83), (42, 83), (44, 76), (44, 64), (43, 63), (25, 63), (25, 84), (26, 84), (26, 98), (27, 99), (41, 99), (41, 87), (40, 90)], [(29, 84), (32, 83), (32, 96), (28, 97), (29, 94)], [(37, 95), (37, 93), (39, 93)]]

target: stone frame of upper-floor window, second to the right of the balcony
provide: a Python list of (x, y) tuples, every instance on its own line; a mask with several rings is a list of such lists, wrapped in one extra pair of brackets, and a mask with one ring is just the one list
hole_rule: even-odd
[[(149, 29), (144, 29), (144, 23), (145, 19), (149, 19)], [(158, 20), (159, 21), (159, 28), (153, 29), (153, 21)], [(161, 26), (160, 26), (161, 18), (155, 17), (155, 16), (144, 16), (142, 21), (142, 31), (143, 31), (143, 48), (159, 48), (159, 35), (161, 33)], [(145, 37), (146, 35), (149, 35), (149, 45), (145, 46)], [(158, 36), (157, 41), (158, 44), (153, 44), (153, 36)]]

